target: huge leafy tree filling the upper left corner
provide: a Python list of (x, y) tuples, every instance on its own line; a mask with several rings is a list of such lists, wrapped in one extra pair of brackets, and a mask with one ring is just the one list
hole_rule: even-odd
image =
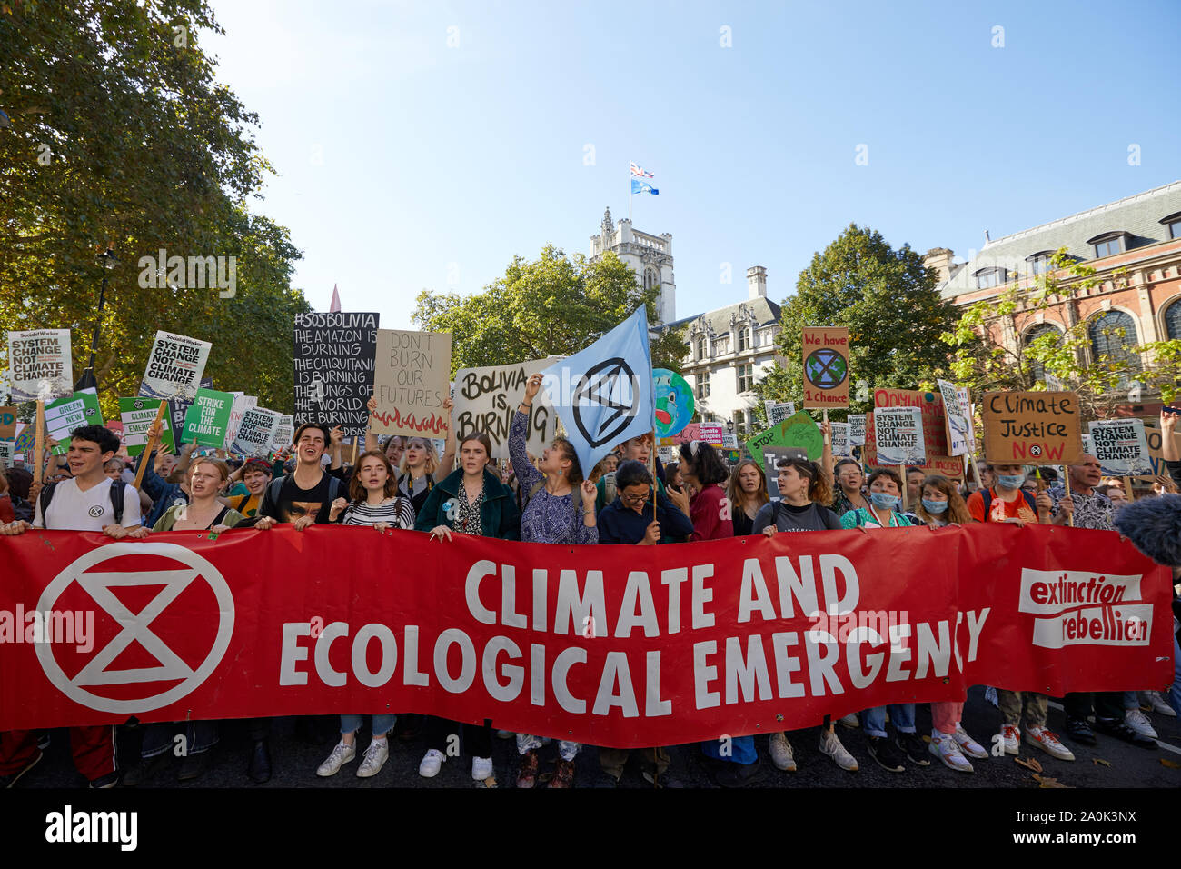
[[(109, 272), (94, 363), (104, 413), (133, 394), (157, 329), (211, 341), (215, 384), (292, 407), (289, 286), (299, 251), (246, 208), (270, 167), (248, 112), (215, 80), (205, 0), (0, 5), (0, 322), (70, 329), (79, 376)], [(236, 294), (144, 287), (141, 259), (235, 257)], [(4, 362), (0, 359), (0, 362)], [(7, 364), (0, 364), (6, 369)]]

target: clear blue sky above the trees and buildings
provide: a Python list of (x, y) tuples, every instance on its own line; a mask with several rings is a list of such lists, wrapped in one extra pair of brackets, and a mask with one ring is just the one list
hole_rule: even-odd
[(678, 317), (745, 298), (751, 265), (782, 300), (850, 221), (965, 258), (1181, 179), (1175, 0), (213, 6), (204, 45), (278, 170), (252, 207), (291, 229), (313, 309), (339, 284), (386, 328), (514, 254), (587, 253), (633, 160)]

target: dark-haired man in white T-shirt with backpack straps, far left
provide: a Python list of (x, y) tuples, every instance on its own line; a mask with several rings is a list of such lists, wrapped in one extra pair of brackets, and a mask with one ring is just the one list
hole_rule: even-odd
[[(72, 478), (45, 486), (37, 498), (33, 524), (13, 521), (0, 534), (24, 534), (31, 527), (52, 531), (100, 531), (116, 539), (139, 526), (139, 497), (135, 488), (115, 482), (103, 465), (119, 449), (119, 437), (102, 426), (81, 426), (70, 433), (66, 460)], [(91, 787), (115, 787), (115, 726), (71, 727), (74, 769)], [(37, 765), (41, 752), (33, 731), (0, 733), (0, 787)]]

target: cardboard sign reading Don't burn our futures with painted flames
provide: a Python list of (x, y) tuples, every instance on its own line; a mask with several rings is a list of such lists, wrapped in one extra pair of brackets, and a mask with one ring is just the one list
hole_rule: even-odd
[(433, 437), (446, 430), (451, 333), (377, 330), (373, 434)]

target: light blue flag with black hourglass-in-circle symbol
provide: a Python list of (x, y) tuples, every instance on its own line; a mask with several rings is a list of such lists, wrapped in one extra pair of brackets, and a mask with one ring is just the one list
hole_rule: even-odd
[(586, 350), (547, 368), (542, 377), (582, 475), (589, 476), (616, 443), (652, 430), (647, 311), (641, 305)]

